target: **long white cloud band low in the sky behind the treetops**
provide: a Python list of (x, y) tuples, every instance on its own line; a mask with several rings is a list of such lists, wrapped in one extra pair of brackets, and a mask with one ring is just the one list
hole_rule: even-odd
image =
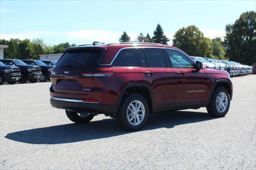
[[(215, 38), (225, 36), (225, 30), (202, 30), (205, 37)], [(119, 42), (119, 37), (123, 32), (112, 32), (106, 30), (78, 30), (73, 32), (52, 32), (52, 31), (26, 31), (14, 34), (0, 34), (0, 39), (10, 40), (10, 38), (19, 38), (24, 40), (41, 38), (46, 43), (46, 40), (50, 43), (60, 43), (60, 42), (83, 42), (83, 43), (92, 43), (94, 41), (104, 42), (104, 43), (115, 43)], [(130, 36), (131, 41), (136, 40), (139, 32), (127, 32)], [(170, 39), (169, 44), (172, 44), (172, 39), (175, 32), (165, 32), (166, 36)], [(144, 34), (146, 35), (146, 34)], [(150, 36), (152, 36), (150, 34)]]

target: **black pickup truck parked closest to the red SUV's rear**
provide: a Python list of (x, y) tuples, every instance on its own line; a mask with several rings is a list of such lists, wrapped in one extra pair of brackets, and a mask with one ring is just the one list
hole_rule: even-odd
[(36, 59), (34, 59), (34, 60), (33, 59), (22, 59), (22, 61), (29, 65), (38, 65), (41, 67), (42, 75), (39, 78), (39, 80), (41, 82), (45, 82), (48, 79), (50, 79), (51, 71), (52, 71), (52, 68), (54, 67), (54, 65), (46, 65), (42, 61), (36, 60)]

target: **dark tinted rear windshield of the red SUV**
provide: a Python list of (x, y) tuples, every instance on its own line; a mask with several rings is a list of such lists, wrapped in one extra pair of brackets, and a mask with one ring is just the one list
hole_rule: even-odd
[(70, 50), (64, 53), (56, 67), (96, 67), (100, 55), (99, 49)]

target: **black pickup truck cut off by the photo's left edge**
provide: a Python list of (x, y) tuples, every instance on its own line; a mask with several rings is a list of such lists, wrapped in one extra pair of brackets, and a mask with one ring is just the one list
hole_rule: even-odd
[(4, 82), (15, 84), (20, 79), (20, 68), (11, 65), (5, 65), (0, 61), (0, 85)]

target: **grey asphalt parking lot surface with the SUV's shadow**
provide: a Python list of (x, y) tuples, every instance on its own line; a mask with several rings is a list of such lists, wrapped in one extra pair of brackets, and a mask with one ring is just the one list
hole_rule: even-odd
[(255, 169), (256, 75), (232, 77), (224, 118), (205, 108), (152, 114), (138, 132), (98, 115), (87, 125), (51, 107), (47, 83), (0, 87), (1, 169)]

